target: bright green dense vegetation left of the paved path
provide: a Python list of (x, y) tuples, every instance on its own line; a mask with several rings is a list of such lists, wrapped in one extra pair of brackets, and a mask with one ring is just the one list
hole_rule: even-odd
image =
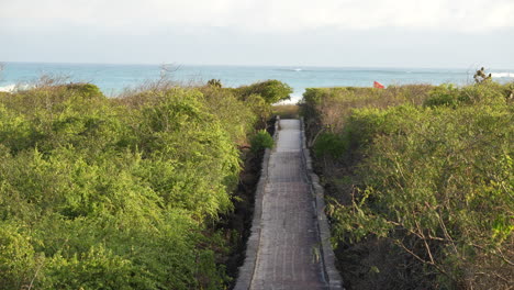
[(215, 224), (271, 82), (1, 93), (0, 289), (224, 289)]

